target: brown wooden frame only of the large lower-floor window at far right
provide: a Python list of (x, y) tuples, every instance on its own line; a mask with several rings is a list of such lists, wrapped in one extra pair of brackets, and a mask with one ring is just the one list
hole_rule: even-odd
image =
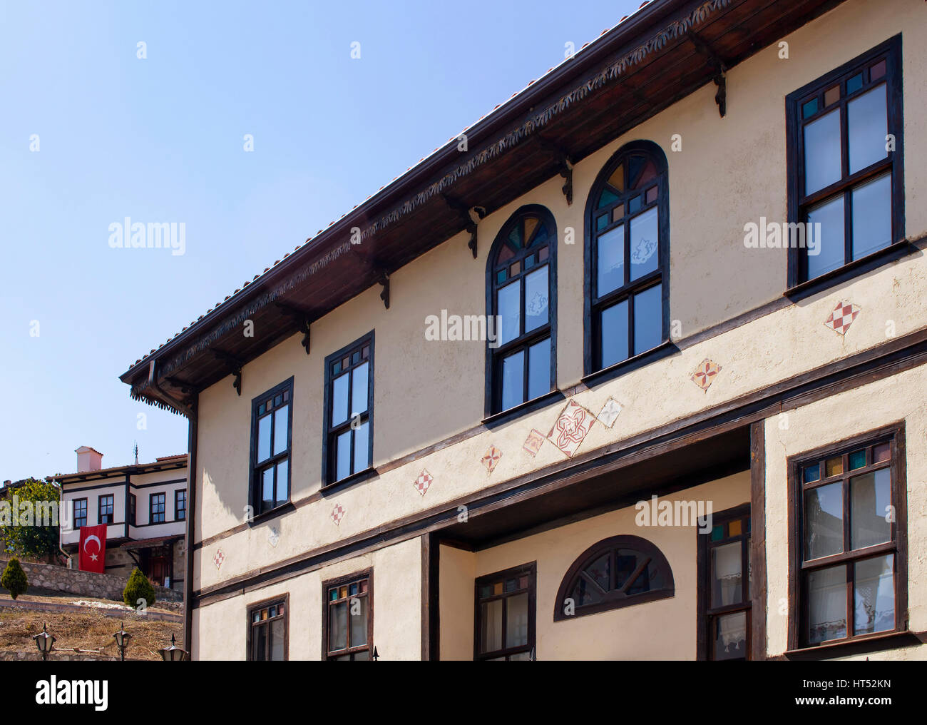
[[(869, 446), (887, 440), (891, 441), (891, 455), (887, 467), (891, 470), (892, 505), (895, 506), (895, 522), (892, 524), (892, 541), (876, 544), (864, 549), (855, 549), (820, 557), (819, 559), (814, 559), (811, 562), (805, 563), (802, 511), (804, 508), (802, 506), (804, 491), (806, 488), (815, 488), (825, 485), (825, 483), (844, 481), (845, 539), (847, 536), (846, 528), (849, 526), (849, 515), (845, 511), (847, 505), (846, 490), (849, 489), (849, 484), (846, 481), (851, 477), (857, 477), (872, 470), (886, 467), (883, 464), (872, 464), (869, 457), (867, 457), (867, 464), (865, 467), (849, 471), (846, 470), (846, 456), (850, 452), (860, 448), (868, 448)], [(837, 455), (844, 456), (844, 472), (842, 474), (833, 477), (821, 477), (812, 484), (804, 484), (802, 482), (800, 472), (804, 466)], [(867, 453), (867, 456), (868, 455)], [(834, 649), (844, 647), (844, 645), (852, 647), (860, 642), (882, 640), (891, 635), (898, 634), (899, 632), (906, 632), (908, 630), (908, 477), (904, 421), (872, 430), (869, 433), (864, 433), (851, 439), (831, 443), (813, 451), (790, 456), (787, 460), (787, 469), (789, 491), (789, 651), (794, 652), (801, 650), (805, 653), (813, 653), (819, 650), (821, 652), (832, 652)], [(840, 640), (827, 640), (816, 644), (808, 644), (803, 634), (806, 625), (804, 572), (826, 568), (828, 566), (852, 563), (861, 559), (877, 556), (880, 553), (895, 553), (895, 629), (859, 635), (853, 635), (851, 633), (853, 630), (853, 617), (855, 616), (854, 607), (850, 605), (852, 604), (850, 598), (852, 597), (854, 581), (852, 578), (847, 578), (847, 590), (850, 592), (847, 597), (847, 636)]]

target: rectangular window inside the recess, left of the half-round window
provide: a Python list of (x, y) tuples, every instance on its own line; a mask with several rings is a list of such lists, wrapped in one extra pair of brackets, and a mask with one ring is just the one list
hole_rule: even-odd
[(477, 660), (535, 658), (537, 563), (476, 579)]

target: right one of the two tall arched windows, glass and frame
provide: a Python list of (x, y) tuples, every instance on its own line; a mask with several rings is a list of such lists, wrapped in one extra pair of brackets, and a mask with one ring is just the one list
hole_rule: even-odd
[(586, 375), (669, 337), (667, 157), (650, 141), (622, 146), (586, 208)]

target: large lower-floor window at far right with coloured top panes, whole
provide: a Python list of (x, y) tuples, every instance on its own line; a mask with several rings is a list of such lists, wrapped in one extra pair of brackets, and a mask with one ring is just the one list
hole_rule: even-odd
[(904, 629), (904, 428), (790, 459), (793, 648)]

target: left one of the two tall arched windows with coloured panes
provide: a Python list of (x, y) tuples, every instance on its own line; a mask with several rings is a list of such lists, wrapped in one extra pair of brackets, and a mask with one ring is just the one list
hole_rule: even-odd
[(513, 214), (489, 250), (486, 306), (499, 324), (487, 346), (488, 415), (539, 398), (555, 384), (556, 242), (551, 212), (529, 205)]

